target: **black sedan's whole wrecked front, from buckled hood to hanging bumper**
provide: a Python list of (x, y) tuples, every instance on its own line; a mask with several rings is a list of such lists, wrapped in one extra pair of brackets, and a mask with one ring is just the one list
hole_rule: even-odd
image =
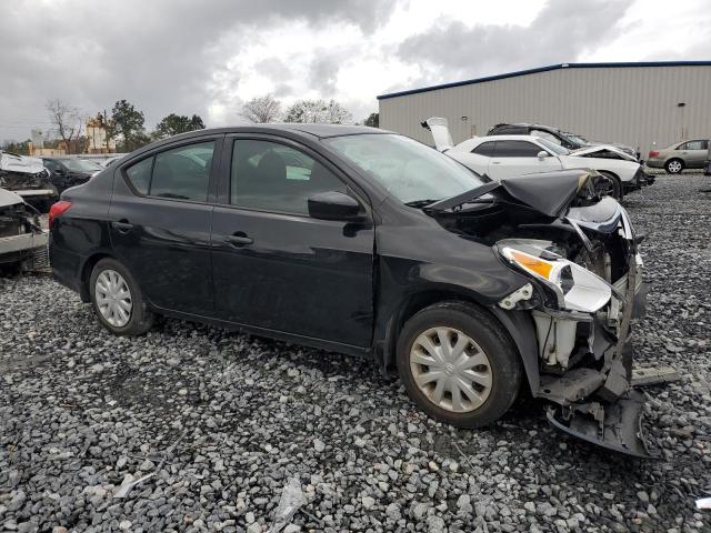
[(462, 238), (491, 245), (504, 264), (529, 278), (499, 308), (531, 324), (538, 358), (527, 372), (529, 380), (538, 373), (533, 395), (557, 404), (550, 422), (645, 457), (643, 396), (632, 389), (630, 342), (631, 322), (645, 311), (642, 238), (622, 205), (594, 195), (592, 173), (484, 183), (425, 211)]

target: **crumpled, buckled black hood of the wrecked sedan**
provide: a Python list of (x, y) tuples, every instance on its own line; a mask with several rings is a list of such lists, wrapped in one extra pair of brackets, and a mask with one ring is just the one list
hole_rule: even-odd
[(509, 178), (500, 182), (492, 181), (457, 197), (435, 202), (425, 208), (425, 210), (444, 211), (471, 202), (488, 193), (499, 195), (504, 192), (517, 202), (523, 203), (548, 217), (562, 217), (593, 172), (583, 169), (558, 170)]

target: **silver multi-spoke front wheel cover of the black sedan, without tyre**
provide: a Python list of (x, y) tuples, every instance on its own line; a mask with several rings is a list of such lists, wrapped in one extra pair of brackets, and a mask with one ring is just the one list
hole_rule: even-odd
[(410, 349), (410, 371), (428, 400), (450, 412), (474, 411), (491, 393), (489, 358), (470, 336), (453, 328), (422, 332)]

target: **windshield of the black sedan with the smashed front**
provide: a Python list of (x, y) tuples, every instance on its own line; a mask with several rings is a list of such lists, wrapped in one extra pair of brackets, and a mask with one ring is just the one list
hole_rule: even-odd
[(402, 135), (364, 133), (323, 142), (403, 203), (432, 203), (485, 181), (443, 153)]

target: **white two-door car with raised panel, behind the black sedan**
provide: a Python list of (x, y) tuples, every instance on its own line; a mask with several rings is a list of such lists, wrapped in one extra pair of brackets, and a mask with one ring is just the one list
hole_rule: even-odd
[(432, 118), (425, 123), (440, 152), (492, 180), (564, 169), (593, 169), (599, 173), (593, 181), (595, 192), (615, 199), (650, 181), (635, 161), (595, 158), (594, 151), (587, 150), (571, 152), (533, 135), (474, 137), (454, 145), (447, 119)]

